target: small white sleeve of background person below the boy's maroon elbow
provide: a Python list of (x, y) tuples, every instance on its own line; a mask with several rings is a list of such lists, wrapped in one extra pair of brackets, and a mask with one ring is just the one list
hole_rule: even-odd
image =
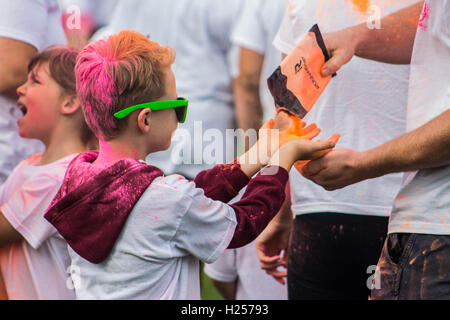
[(236, 249), (228, 249), (214, 263), (205, 264), (205, 273), (216, 281), (234, 282), (238, 278)]

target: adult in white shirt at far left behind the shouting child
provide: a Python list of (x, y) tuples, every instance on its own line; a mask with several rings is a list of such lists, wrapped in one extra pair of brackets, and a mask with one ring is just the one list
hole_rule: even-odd
[(0, 183), (20, 161), (43, 150), (41, 142), (17, 133), (16, 89), (37, 52), (66, 43), (60, 19), (57, 0), (0, 0)]

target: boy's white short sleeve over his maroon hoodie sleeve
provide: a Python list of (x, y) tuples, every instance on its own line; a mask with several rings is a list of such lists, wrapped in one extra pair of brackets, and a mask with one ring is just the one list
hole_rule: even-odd
[(170, 246), (174, 256), (189, 253), (212, 263), (228, 247), (236, 228), (236, 215), (227, 204), (207, 198), (186, 180), (178, 184), (185, 212)]

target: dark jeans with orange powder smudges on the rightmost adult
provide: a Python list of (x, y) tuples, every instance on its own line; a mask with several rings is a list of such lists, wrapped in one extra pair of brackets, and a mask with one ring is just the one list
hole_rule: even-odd
[(374, 300), (449, 300), (450, 236), (390, 234), (378, 268)]

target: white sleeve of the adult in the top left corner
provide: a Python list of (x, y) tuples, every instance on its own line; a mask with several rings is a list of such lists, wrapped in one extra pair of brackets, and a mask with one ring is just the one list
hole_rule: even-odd
[(0, 0), (0, 37), (28, 43), (41, 51), (48, 30), (45, 0)]

